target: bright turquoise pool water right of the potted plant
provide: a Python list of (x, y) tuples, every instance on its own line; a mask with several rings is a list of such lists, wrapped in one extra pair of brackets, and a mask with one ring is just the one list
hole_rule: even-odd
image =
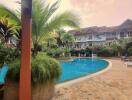
[(107, 66), (107, 61), (96, 58), (79, 58), (73, 61), (61, 62), (62, 76), (60, 82), (98, 72)]

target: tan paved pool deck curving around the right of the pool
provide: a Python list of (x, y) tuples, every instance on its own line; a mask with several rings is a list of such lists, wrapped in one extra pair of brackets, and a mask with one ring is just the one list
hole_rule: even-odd
[(132, 100), (132, 67), (119, 58), (106, 60), (112, 63), (109, 70), (57, 88), (52, 100)]

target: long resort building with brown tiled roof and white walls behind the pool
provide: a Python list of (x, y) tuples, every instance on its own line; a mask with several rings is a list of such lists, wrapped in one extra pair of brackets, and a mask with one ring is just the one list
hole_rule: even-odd
[(132, 37), (132, 20), (128, 19), (119, 26), (88, 27), (72, 30), (76, 39), (76, 48), (86, 48), (95, 45), (111, 45), (112, 42)]

